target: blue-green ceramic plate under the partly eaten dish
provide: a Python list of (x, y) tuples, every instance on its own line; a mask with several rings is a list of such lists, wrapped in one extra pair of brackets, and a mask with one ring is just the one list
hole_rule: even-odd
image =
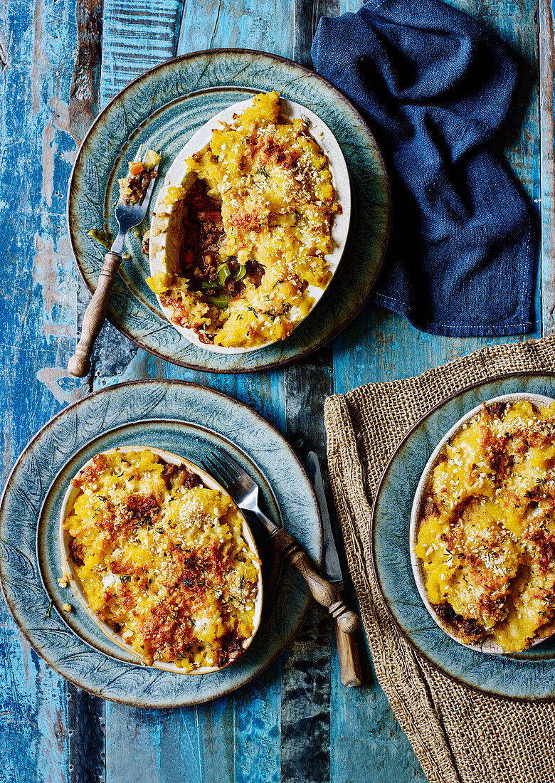
[[(130, 258), (110, 295), (108, 318), (142, 348), (175, 364), (243, 373), (299, 359), (347, 325), (377, 280), (389, 236), (389, 185), (380, 150), (359, 112), (328, 81), (297, 63), (264, 52), (219, 49), (147, 71), (106, 106), (85, 137), (70, 179), (67, 210), (71, 247), (88, 290), (96, 289), (104, 256), (104, 248), (88, 232), (117, 233), (117, 178), (127, 174), (127, 161), (139, 144), (163, 155), (160, 188), (171, 162), (205, 122), (226, 106), (270, 89), (308, 106), (340, 144), (356, 207), (351, 240), (323, 301), (287, 340), (248, 354), (220, 355), (191, 345), (165, 319), (145, 283), (148, 258), (130, 231), (124, 247)], [(156, 199), (157, 190), (151, 203)]]

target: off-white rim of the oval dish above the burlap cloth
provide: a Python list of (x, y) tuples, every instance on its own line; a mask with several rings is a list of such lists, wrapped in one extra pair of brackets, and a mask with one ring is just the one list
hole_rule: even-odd
[[(546, 397), (544, 395), (538, 395), (538, 394), (531, 394), (528, 392), (520, 392), (516, 394), (506, 394), (506, 395), (499, 395), (498, 397), (492, 397), (492, 399), (488, 399), (485, 401), (485, 405), (488, 406), (492, 402), (516, 402), (519, 399), (526, 399), (529, 402), (534, 403), (536, 406), (546, 406), (546, 405), (550, 405), (552, 402), (555, 402), (555, 399), (553, 399), (552, 397)], [(453, 424), (452, 428), (445, 433), (443, 438), (441, 438), (441, 441), (438, 443), (438, 446), (436, 446), (434, 451), (431, 453), (431, 457), (427, 461), (426, 467), (424, 467), (423, 469), (422, 476), (420, 477), (420, 482), (418, 482), (418, 486), (416, 487), (413, 508), (410, 514), (410, 527), (409, 527), (410, 562), (413, 567), (414, 581), (416, 582), (416, 587), (418, 588), (420, 597), (422, 598), (428, 612), (430, 612), (432, 619), (434, 619), (434, 622), (438, 624), (441, 630), (445, 631), (445, 633), (447, 633), (447, 635), (451, 637), (453, 640), (458, 642), (458, 644), (463, 644), (464, 647), (467, 647), (470, 650), (477, 650), (478, 652), (487, 652), (493, 655), (505, 655), (506, 653), (503, 647), (501, 647), (500, 644), (497, 644), (495, 641), (493, 641), (488, 637), (482, 640), (481, 644), (468, 644), (467, 642), (463, 642), (462, 640), (459, 639), (459, 637), (457, 637), (454, 633), (452, 633), (448, 623), (441, 621), (441, 619), (438, 617), (436, 612), (434, 612), (434, 609), (431, 607), (430, 601), (427, 596), (426, 586), (424, 584), (424, 579), (423, 579), (422, 561), (420, 560), (420, 557), (416, 556), (414, 551), (416, 547), (416, 539), (419, 531), (420, 516), (422, 513), (423, 501), (426, 496), (428, 486), (430, 485), (431, 474), (434, 471), (434, 467), (438, 463), (438, 457), (443, 451), (445, 444), (449, 441), (450, 438), (452, 438), (453, 435), (455, 435), (456, 432), (459, 431), (459, 429), (463, 426), (463, 424), (465, 424), (465, 422), (467, 422), (468, 420), (476, 416), (477, 413), (480, 413), (480, 411), (482, 410), (482, 405), (483, 403), (480, 403), (480, 405), (475, 406), (472, 410), (469, 410), (468, 413), (465, 413), (463, 417), (461, 417), (458, 421), (456, 421), (455, 424)], [(530, 647), (535, 647), (536, 644), (541, 644), (542, 641), (545, 641), (545, 638), (536, 639), (535, 641), (532, 642)]]

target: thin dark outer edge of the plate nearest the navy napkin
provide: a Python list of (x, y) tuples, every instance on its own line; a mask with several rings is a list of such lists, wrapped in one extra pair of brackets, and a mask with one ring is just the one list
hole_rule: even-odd
[[(384, 236), (384, 244), (380, 251), (380, 261), (377, 264), (377, 272), (375, 279), (371, 285), (371, 287), (368, 290), (368, 294), (366, 294), (366, 297), (362, 298), (353, 309), (353, 312), (349, 315), (347, 319), (344, 319), (340, 325), (335, 327), (333, 330), (330, 330), (330, 334), (328, 334), (325, 338), (321, 339), (318, 342), (318, 345), (314, 345), (311, 348), (304, 348), (300, 349), (299, 352), (297, 352), (294, 356), (290, 356), (287, 359), (279, 359), (274, 362), (268, 362), (263, 364), (262, 366), (253, 366), (253, 367), (225, 367), (222, 369), (221, 367), (218, 368), (207, 368), (207, 367), (201, 367), (198, 364), (192, 364), (183, 362), (181, 359), (175, 359), (175, 358), (169, 358), (167, 355), (164, 355), (160, 351), (154, 350), (153, 348), (146, 348), (145, 345), (142, 345), (142, 342), (139, 341), (139, 338), (134, 337), (132, 334), (129, 333), (128, 330), (124, 329), (122, 325), (118, 325), (117, 323), (114, 323), (114, 320), (110, 317), (110, 312), (106, 314), (106, 320), (109, 321), (112, 326), (117, 329), (121, 334), (124, 334), (125, 337), (128, 337), (128, 340), (131, 340), (134, 345), (137, 345), (139, 348), (142, 348), (142, 350), (149, 352), (153, 356), (157, 356), (158, 359), (164, 359), (166, 362), (170, 362), (171, 364), (175, 364), (176, 366), (185, 367), (187, 370), (202, 370), (206, 373), (214, 373), (214, 374), (225, 374), (225, 375), (238, 375), (238, 374), (246, 374), (246, 373), (254, 373), (254, 372), (265, 372), (267, 370), (275, 370), (277, 367), (283, 367), (287, 366), (290, 363), (296, 362), (299, 359), (304, 359), (305, 356), (310, 355), (311, 353), (318, 351), (320, 348), (323, 348), (325, 345), (328, 345), (330, 341), (333, 340), (334, 337), (337, 337), (337, 334), (340, 334), (344, 329), (348, 327), (348, 325), (356, 318), (356, 316), (359, 315), (359, 313), (362, 311), (362, 308), (368, 303), (370, 296), (373, 294), (373, 290), (375, 289), (378, 280), (380, 279), (381, 272), (384, 269), (384, 262), (385, 258), (387, 257), (387, 251), (389, 250), (389, 244), (391, 240), (391, 220), (392, 220), (392, 211), (393, 211), (393, 204), (391, 200), (391, 181), (389, 178), (389, 175), (387, 173), (387, 167), (385, 165), (384, 161), (384, 155), (382, 151), (380, 150), (380, 146), (378, 146), (376, 137), (374, 136), (372, 129), (369, 127), (369, 124), (366, 122), (366, 119), (362, 116), (362, 113), (360, 110), (355, 106), (354, 103), (352, 103), (351, 99), (349, 99), (347, 96), (344, 95), (341, 90), (339, 90), (335, 85), (332, 84), (331, 81), (328, 81), (326, 78), (324, 78), (322, 75), (315, 72), (315, 70), (311, 70), (310, 68), (307, 68), (300, 63), (297, 63), (295, 60), (290, 60), (288, 57), (283, 57), (281, 55), (273, 54), (272, 52), (263, 52), (258, 49), (242, 49), (240, 47), (219, 47), (218, 49), (200, 49), (198, 52), (188, 52), (187, 54), (182, 54), (177, 57), (171, 57), (169, 60), (165, 60), (164, 63), (159, 63), (158, 65), (154, 66), (153, 68), (150, 68), (149, 70), (146, 70), (143, 74), (140, 74), (139, 76), (135, 77), (130, 81), (127, 85), (125, 85), (119, 92), (116, 93), (116, 95), (106, 103), (106, 106), (103, 106), (103, 108), (99, 111), (99, 114), (97, 117), (95, 117), (94, 121), (92, 122), (90, 128), (88, 128), (88, 131), (85, 133), (85, 136), (83, 137), (81, 144), (79, 145), (79, 148), (77, 150), (77, 155), (75, 156), (74, 164), (71, 167), (71, 173), (70, 178), (68, 180), (68, 186), (67, 186), (67, 203), (66, 203), (66, 223), (67, 223), (67, 236), (70, 243), (71, 248), (71, 254), (74, 258), (75, 266), (77, 267), (77, 272), (79, 275), (80, 280), (85, 285), (86, 290), (88, 290), (88, 293), (92, 296), (94, 294), (95, 289), (93, 289), (89, 284), (88, 281), (85, 279), (84, 273), (81, 271), (81, 266), (79, 265), (79, 262), (77, 261), (77, 254), (75, 251), (75, 242), (74, 242), (74, 229), (71, 225), (71, 213), (73, 211), (74, 206), (74, 190), (75, 190), (75, 183), (74, 179), (76, 176), (76, 171), (78, 168), (78, 165), (81, 161), (81, 156), (84, 153), (85, 144), (88, 142), (88, 138), (96, 129), (96, 125), (99, 124), (99, 122), (102, 120), (104, 114), (106, 114), (106, 111), (110, 109), (111, 106), (114, 105), (114, 103), (119, 99), (128, 88), (136, 85), (139, 81), (145, 78), (149, 78), (152, 76), (157, 70), (160, 70), (164, 67), (168, 66), (174, 66), (176, 63), (185, 62), (186, 60), (191, 60), (194, 57), (198, 56), (219, 56), (222, 54), (236, 54), (236, 55), (254, 55), (254, 56), (264, 56), (268, 57), (271, 60), (276, 60), (278, 63), (287, 63), (289, 66), (294, 66), (298, 70), (301, 70), (306, 76), (310, 78), (315, 78), (317, 81), (320, 81), (323, 83), (323, 85), (326, 86), (326, 88), (330, 89), (332, 92), (334, 92), (339, 99), (344, 101), (351, 111), (359, 117), (359, 121), (362, 123), (362, 125), (366, 128), (367, 132), (369, 133), (370, 137), (373, 139), (377, 158), (380, 161), (380, 168), (383, 171), (384, 175), (384, 186), (385, 186), (385, 192), (387, 194), (387, 221), (386, 221), (386, 231)], [(351, 215), (353, 218), (356, 219), (357, 215), (357, 208), (356, 208), (356, 202), (354, 199), (354, 193), (352, 189), (352, 182), (351, 182)], [(351, 226), (349, 228), (347, 240), (345, 241), (345, 247), (344, 247), (344, 255), (346, 255), (351, 247), (352, 240), (353, 240), (353, 233), (354, 233), (354, 222), (355, 220), (351, 220)], [(333, 283), (333, 281), (332, 281)], [(321, 299), (324, 298), (326, 293), (328, 293), (330, 287), (324, 291), (324, 294)], [(320, 300), (321, 301), (321, 300)], [(311, 315), (309, 313), (309, 315)]]

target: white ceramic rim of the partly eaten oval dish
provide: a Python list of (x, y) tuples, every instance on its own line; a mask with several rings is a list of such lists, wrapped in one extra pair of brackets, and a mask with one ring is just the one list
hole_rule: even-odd
[[(182, 148), (175, 158), (175, 161), (171, 164), (168, 174), (164, 178), (164, 186), (181, 186), (182, 182), (186, 179), (186, 175), (189, 173), (189, 166), (187, 165), (187, 158), (191, 157), (194, 153), (202, 150), (207, 144), (210, 143), (212, 138), (212, 131), (217, 128), (221, 128), (222, 122), (231, 124), (234, 114), (241, 114), (247, 106), (252, 105), (252, 100), (243, 100), (240, 103), (233, 103), (232, 106), (220, 111), (214, 117), (211, 117), (202, 128), (200, 128), (193, 138)], [(301, 103), (295, 103), (294, 101), (282, 100), (281, 111), (284, 117), (289, 119), (297, 119), (298, 117), (305, 116), (309, 121), (309, 130), (312, 138), (318, 143), (321, 150), (326, 153), (328, 160), (330, 161), (330, 169), (333, 175), (333, 186), (336, 191), (337, 203), (341, 206), (341, 213), (334, 215), (332, 225), (333, 236), (333, 251), (326, 255), (326, 262), (330, 267), (331, 278), (328, 281), (325, 288), (317, 288), (315, 286), (309, 287), (309, 294), (314, 298), (315, 303), (312, 305), (312, 310), (318, 304), (319, 300), (323, 297), (323, 294), (330, 286), (333, 280), (333, 276), (337, 272), (337, 267), (343, 256), (345, 245), (347, 244), (347, 238), (349, 233), (349, 225), (351, 222), (351, 183), (349, 181), (349, 172), (341, 147), (337, 143), (337, 139), (330, 131), (330, 128), (323, 122), (317, 114), (308, 109), (307, 106), (302, 106)], [(160, 204), (161, 202), (161, 204)], [(172, 206), (168, 206), (164, 202), (164, 191), (158, 192), (156, 206), (154, 207), (154, 213), (159, 211), (159, 207), (166, 213), (171, 213), (172, 208), (178, 207), (179, 201), (175, 202)], [(163, 235), (165, 237), (165, 234)], [(166, 267), (163, 265), (160, 258), (160, 246), (159, 241), (155, 239), (150, 240), (150, 274), (154, 275), (156, 272), (165, 272)], [(268, 345), (272, 345), (272, 342), (267, 342), (264, 345), (255, 345), (254, 348), (226, 348), (223, 345), (212, 345), (200, 341), (198, 335), (193, 329), (186, 329), (179, 326), (177, 323), (171, 321), (172, 312), (168, 307), (164, 307), (160, 301), (160, 297), (157, 295), (158, 304), (160, 309), (164, 312), (164, 315), (171, 323), (171, 325), (178, 330), (180, 334), (187, 338), (193, 345), (204, 351), (211, 351), (221, 354), (244, 354), (254, 351), (260, 351), (262, 348), (266, 348)], [(307, 313), (307, 316), (310, 315)], [(307, 317), (305, 316), (305, 318)], [(304, 319), (302, 319), (304, 320)], [(297, 328), (302, 321), (297, 323)], [(289, 339), (289, 337), (287, 337)]]

